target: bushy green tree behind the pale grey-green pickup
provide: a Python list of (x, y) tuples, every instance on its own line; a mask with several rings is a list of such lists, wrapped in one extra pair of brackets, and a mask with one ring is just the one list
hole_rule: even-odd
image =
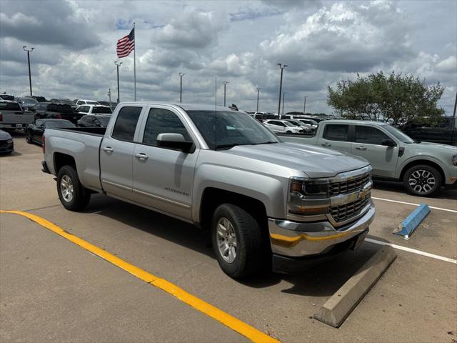
[(418, 120), (436, 124), (444, 114), (437, 107), (444, 87), (438, 82), (427, 86), (425, 80), (412, 75), (385, 75), (382, 71), (366, 77), (357, 74), (355, 81), (340, 81), (336, 89), (328, 87), (327, 103), (343, 117), (356, 119)]

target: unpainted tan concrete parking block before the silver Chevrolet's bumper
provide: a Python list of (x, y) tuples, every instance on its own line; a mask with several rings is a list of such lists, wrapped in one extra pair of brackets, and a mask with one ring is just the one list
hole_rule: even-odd
[(379, 250), (313, 317), (332, 327), (340, 327), (396, 257), (391, 247)]

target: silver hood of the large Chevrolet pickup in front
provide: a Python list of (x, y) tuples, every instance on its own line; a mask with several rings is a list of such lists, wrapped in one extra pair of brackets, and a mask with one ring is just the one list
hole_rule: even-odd
[(286, 166), (311, 178), (334, 177), (341, 172), (363, 168), (366, 159), (306, 144), (276, 143), (234, 146), (227, 154)]

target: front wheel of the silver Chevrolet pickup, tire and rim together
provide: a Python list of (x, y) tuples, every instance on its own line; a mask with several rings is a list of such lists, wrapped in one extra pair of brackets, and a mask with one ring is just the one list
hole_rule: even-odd
[(247, 277), (261, 267), (261, 227), (241, 207), (221, 204), (211, 224), (214, 253), (221, 269), (233, 278)]

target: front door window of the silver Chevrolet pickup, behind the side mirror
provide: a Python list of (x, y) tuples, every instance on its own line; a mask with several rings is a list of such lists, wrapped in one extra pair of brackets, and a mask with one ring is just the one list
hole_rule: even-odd
[(159, 134), (182, 134), (186, 141), (191, 141), (186, 127), (176, 114), (168, 109), (151, 109), (144, 128), (143, 143), (157, 146)]

